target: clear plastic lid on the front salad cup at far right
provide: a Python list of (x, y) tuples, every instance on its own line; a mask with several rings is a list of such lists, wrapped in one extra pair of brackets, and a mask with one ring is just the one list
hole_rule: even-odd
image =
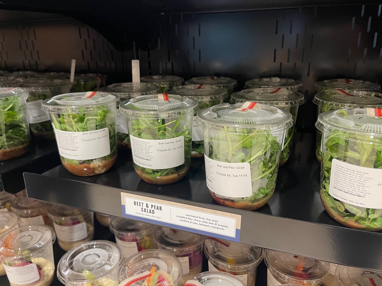
[[(369, 135), (369, 140), (376, 137), (380, 138), (382, 137), (382, 120), (380, 116), (377, 117), (374, 114), (375, 110), (380, 112), (381, 109), (354, 108), (324, 112), (319, 115), (316, 127), (325, 133), (341, 130), (359, 135)], [(356, 138), (352, 139), (356, 140)]]

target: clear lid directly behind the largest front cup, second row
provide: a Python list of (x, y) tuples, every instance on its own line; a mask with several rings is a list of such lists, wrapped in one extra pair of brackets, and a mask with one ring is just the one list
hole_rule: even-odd
[(253, 101), (276, 107), (296, 106), (304, 103), (304, 95), (286, 88), (249, 88), (232, 93), (232, 102)]

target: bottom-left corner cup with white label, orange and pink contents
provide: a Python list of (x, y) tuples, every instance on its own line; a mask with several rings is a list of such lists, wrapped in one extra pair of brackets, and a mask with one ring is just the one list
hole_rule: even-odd
[(56, 236), (46, 225), (21, 227), (0, 243), (0, 259), (11, 286), (49, 286), (55, 276), (53, 243)]

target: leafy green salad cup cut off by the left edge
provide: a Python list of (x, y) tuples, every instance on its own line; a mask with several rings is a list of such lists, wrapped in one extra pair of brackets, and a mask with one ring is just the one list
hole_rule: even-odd
[(19, 157), (28, 151), (28, 97), (29, 93), (21, 88), (0, 88), (0, 161)]

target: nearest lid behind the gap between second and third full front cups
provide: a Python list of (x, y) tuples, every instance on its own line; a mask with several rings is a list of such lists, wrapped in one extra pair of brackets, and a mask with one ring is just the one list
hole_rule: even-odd
[(168, 93), (184, 95), (197, 101), (221, 100), (228, 97), (227, 89), (208, 84), (181, 85)]

